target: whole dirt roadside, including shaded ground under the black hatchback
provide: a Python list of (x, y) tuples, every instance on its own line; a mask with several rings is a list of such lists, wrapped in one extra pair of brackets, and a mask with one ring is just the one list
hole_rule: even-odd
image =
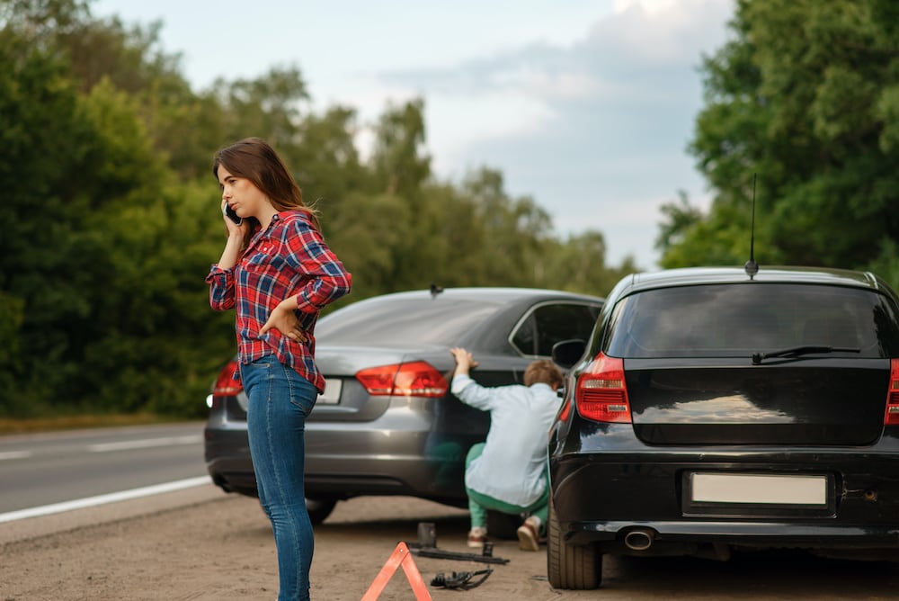
[[(0, 480), (2, 481), (2, 480)], [(359, 601), (396, 544), (436, 525), (440, 549), (468, 552), (467, 512), (414, 498), (357, 498), (316, 526), (312, 598)], [(546, 548), (522, 552), (494, 541), (504, 565), (413, 555), (434, 601), (734, 601), (797, 598), (895, 599), (899, 568), (755, 553), (729, 562), (692, 558), (606, 558), (603, 588), (556, 590)], [(471, 590), (430, 586), (443, 572), (494, 572)], [(178, 601), (277, 596), (271, 528), (258, 502), (211, 484), (151, 498), (0, 523), (0, 601)], [(415, 599), (402, 568), (378, 601)]]

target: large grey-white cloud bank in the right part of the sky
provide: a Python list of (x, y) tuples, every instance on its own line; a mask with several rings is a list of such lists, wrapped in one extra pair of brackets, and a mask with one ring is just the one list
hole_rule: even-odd
[(486, 164), (560, 233), (603, 232), (610, 259), (654, 263), (659, 207), (708, 204), (685, 148), (701, 106), (701, 54), (725, 40), (729, 0), (628, 2), (568, 43), (527, 43), (452, 67), (390, 70), (429, 108), (435, 168)]

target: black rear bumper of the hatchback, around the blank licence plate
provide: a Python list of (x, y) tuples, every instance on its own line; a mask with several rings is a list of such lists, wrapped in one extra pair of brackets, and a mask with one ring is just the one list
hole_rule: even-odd
[[(815, 510), (740, 503), (698, 509), (690, 507), (691, 472), (825, 476), (828, 503)], [(644, 530), (654, 543), (899, 549), (893, 449), (572, 453), (551, 458), (550, 479), (556, 518), (571, 544), (601, 543), (611, 551), (623, 547), (628, 532)]]

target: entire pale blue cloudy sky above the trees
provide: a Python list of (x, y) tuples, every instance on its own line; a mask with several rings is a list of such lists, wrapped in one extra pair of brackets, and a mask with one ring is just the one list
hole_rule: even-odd
[[(94, 0), (94, 16), (162, 22), (196, 91), (298, 67), (313, 110), (374, 123), (423, 98), (441, 181), (489, 167), (557, 237), (601, 231), (606, 265), (657, 268), (659, 208), (711, 192), (687, 147), (703, 56), (734, 0)], [(254, 132), (246, 132), (247, 136)], [(369, 137), (370, 139), (370, 137)], [(367, 148), (363, 131), (360, 152)]]

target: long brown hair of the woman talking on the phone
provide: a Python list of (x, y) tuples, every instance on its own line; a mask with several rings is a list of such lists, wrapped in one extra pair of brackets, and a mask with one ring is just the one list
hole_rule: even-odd
[[(269, 198), (271, 206), (278, 211), (303, 211), (315, 228), (321, 230), (318, 211), (303, 202), (303, 191), (299, 189), (297, 180), (290, 175), (284, 161), (265, 140), (245, 138), (225, 148), (219, 148), (212, 161), (212, 175), (217, 182), (219, 166), (224, 166), (231, 175), (244, 177), (253, 182)], [(250, 238), (259, 228), (259, 222), (255, 219), (253, 221), (244, 235), (244, 247), (249, 244)]]

